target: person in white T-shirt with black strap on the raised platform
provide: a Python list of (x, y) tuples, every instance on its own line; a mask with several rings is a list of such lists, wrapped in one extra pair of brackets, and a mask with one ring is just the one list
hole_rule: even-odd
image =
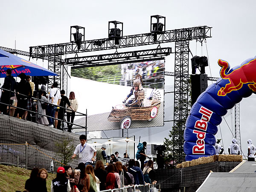
[[(58, 83), (54, 82), (52, 84), (52, 89), (50, 90), (50, 94), (49, 94), (49, 103), (52, 103), (53, 105), (48, 105), (47, 107), (47, 115), (57, 118), (58, 117), (58, 113), (56, 113), (57, 111), (57, 106), (59, 105), (59, 103), (61, 102), (61, 93), (60, 90), (58, 90)], [(49, 121), (49, 127), (54, 127), (53, 126), (53, 119), (50, 117), (47, 117), (48, 121)], [(55, 128), (57, 128), (58, 125), (58, 120), (55, 119)]]

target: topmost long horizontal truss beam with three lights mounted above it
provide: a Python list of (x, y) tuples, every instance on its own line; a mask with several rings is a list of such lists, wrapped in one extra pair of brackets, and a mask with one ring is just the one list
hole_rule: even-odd
[[(157, 35), (157, 41), (154, 41), (153, 33), (144, 33), (139, 35), (123, 36), (119, 39), (119, 45), (115, 44), (115, 39), (105, 38), (81, 41), (80, 49), (74, 42), (51, 44), (30, 47), (32, 57), (42, 58), (49, 55), (65, 55), (70, 53), (90, 52), (107, 49), (117, 49), (125, 47), (136, 47), (142, 45), (169, 43), (176, 41), (191, 41), (191, 40), (204, 40), (211, 37), (212, 27), (198, 26), (186, 29), (174, 29), (170, 31), (163, 31)], [(99, 46), (99, 42), (102, 43)], [(35, 55), (35, 56), (34, 56)]]

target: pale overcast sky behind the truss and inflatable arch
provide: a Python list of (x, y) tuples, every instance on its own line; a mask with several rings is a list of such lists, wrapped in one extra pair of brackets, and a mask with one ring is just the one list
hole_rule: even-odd
[[(124, 23), (123, 35), (147, 33), (150, 32), (150, 16), (162, 15), (166, 17), (166, 30), (203, 25), (212, 27), (212, 38), (207, 39), (207, 44), (204, 43), (201, 47), (200, 43), (196, 44), (193, 41), (190, 42), (190, 49), (193, 55), (209, 56), (210, 67), (207, 67), (206, 73), (208, 76), (219, 77), (220, 67), (217, 64), (219, 58), (230, 62), (231, 67), (234, 67), (256, 55), (255, 7), (254, 0), (2, 1), (0, 46), (14, 48), (16, 39), (17, 49), (29, 51), (30, 46), (69, 42), (70, 26), (73, 25), (85, 27), (86, 40), (106, 38), (108, 21), (111, 20)], [(135, 47), (132, 50), (156, 47), (157, 45)], [(174, 44), (162, 44), (161, 47), (173, 47), (174, 50)], [(118, 51), (125, 50), (128, 49)], [(39, 60), (33, 62), (42, 65)], [(46, 61), (44, 61), (45, 66)], [(166, 58), (166, 71), (174, 72), (173, 55)], [(172, 87), (172, 78), (166, 78), (165, 84)], [(168, 97), (170, 96), (166, 96)], [(252, 137), (256, 135), (256, 125), (253, 120), (256, 112), (255, 98), (256, 96), (253, 95), (240, 103), (241, 142), (245, 153), (247, 139), (252, 139), (256, 144), (256, 139)], [(172, 102), (171, 100), (169, 99), (168, 102)], [(167, 110), (173, 109), (168, 107)], [(234, 114), (232, 111), (229, 114), (226, 120), (234, 130)], [(172, 117), (167, 116), (166, 120), (172, 120)], [(227, 151), (233, 136), (225, 124), (225, 121), (221, 124), (221, 131), (224, 148)], [(170, 127), (170, 123), (166, 123), (165, 127), (157, 131), (151, 128), (148, 131), (151, 138), (148, 140), (151, 143), (162, 143)], [(134, 130), (131, 133), (142, 134), (143, 130)], [(220, 133), (217, 135), (221, 137)]]

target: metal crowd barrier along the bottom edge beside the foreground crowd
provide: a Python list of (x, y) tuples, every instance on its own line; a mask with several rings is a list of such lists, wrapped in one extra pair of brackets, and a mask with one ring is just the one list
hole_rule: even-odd
[(160, 192), (153, 184), (125, 186), (120, 189), (108, 189), (100, 192)]

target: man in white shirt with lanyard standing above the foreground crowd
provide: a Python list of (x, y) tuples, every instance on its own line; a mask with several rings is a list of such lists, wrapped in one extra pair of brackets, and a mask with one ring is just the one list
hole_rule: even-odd
[(80, 135), (80, 143), (76, 146), (72, 159), (78, 155), (78, 163), (84, 163), (85, 166), (90, 165), (91, 161), (95, 161), (96, 149), (87, 142), (86, 135)]

